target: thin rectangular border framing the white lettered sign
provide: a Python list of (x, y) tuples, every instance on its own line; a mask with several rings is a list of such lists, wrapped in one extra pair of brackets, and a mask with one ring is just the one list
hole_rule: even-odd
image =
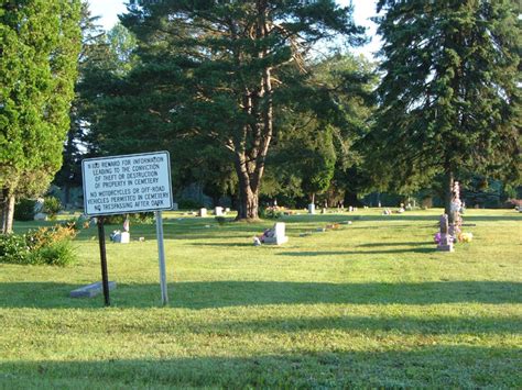
[[(165, 155), (166, 159), (166, 169), (168, 176), (168, 207), (162, 208), (140, 208), (140, 209), (132, 209), (132, 210), (117, 210), (117, 211), (99, 211), (99, 212), (87, 212), (87, 182), (86, 182), (86, 175), (85, 175), (85, 166), (89, 163), (99, 163), (104, 160), (111, 160), (111, 159), (119, 159), (119, 158), (139, 158), (143, 156), (152, 156), (152, 155)], [(143, 213), (143, 212), (154, 212), (154, 211), (165, 211), (172, 210), (174, 207), (174, 200), (172, 196), (172, 174), (171, 174), (171, 155), (167, 151), (161, 152), (149, 152), (149, 153), (137, 153), (137, 154), (129, 154), (129, 155), (118, 155), (118, 156), (107, 156), (107, 157), (93, 157), (93, 158), (85, 158), (81, 160), (81, 183), (83, 183), (83, 194), (84, 194), (84, 213), (88, 216), (102, 216), (102, 215), (118, 215), (118, 214), (129, 214), (129, 213)], [(95, 189), (94, 189), (95, 190)]]

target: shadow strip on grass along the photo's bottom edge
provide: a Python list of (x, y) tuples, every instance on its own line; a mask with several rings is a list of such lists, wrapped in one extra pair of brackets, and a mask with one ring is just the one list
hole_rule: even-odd
[[(116, 344), (118, 345), (118, 344)], [(445, 345), (410, 350), (298, 350), (77, 361), (2, 361), (0, 385), (18, 388), (516, 388), (520, 355), (505, 347)]]

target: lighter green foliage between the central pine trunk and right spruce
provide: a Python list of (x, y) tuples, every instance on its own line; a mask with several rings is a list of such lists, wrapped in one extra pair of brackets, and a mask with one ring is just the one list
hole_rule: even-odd
[(314, 88), (297, 88), (278, 110), (276, 142), (262, 192), (295, 198), (304, 191), (314, 198), (328, 190), (328, 198), (335, 192), (339, 200), (347, 190), (362, 189), (365, 172), (356, 167), (367, 151), (359, 141), (370, 129), (377, 78), (372, 64), (349, 54), (314, 63), (311, 71)]

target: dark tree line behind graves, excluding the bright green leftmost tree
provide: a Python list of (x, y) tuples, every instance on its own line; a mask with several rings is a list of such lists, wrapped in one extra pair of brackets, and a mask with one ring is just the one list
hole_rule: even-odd
[[(431, 189), (448, 209), (455, 179), (515, 188), (516, 2), (378, 9), (372, 64), (349, 54), (365, 40), (352, 9), (329, 0), (131, 4), (107, 34), (84, 4), (57, 183), (79, 183), (85, 156), (166, 149), (175, 188), (228, 194), (240, 219), (258, 216), (260, 196), (355, 204), (370, 191)], [(318, 54), (325, 42), (336, 52)]]

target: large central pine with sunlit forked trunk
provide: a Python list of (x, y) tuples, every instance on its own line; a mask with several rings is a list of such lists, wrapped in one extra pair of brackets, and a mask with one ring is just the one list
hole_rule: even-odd
[(340, 33), (355, 43), (361, 30), (351, 9), (333, 0), (140, 3), (122, 21), (139, 40), (142, 66), (162, 76), (153, 77), (161, 103), (149, 112), (168, 127), (165, 137), (196, 135), (227, 148), (238, 219), (257, 219), (274, 101), (286, 87), (281, 73), (294, 66), (304, 75), (304, 58), (320, 40)]

